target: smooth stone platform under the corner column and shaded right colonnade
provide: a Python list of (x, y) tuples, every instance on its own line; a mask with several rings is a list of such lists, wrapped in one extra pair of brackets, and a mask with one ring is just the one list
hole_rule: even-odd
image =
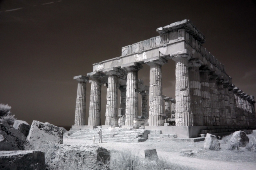
[[(232, 133), (253, 127), (231, 126), (145, 126), (146, 130), (161, 130), (162, 134), (176, 134), (178, 138), (197, 138), (198, 134), (210, 133), (214, 135)], [(255, 129), (255, 128), (254, 128)]]

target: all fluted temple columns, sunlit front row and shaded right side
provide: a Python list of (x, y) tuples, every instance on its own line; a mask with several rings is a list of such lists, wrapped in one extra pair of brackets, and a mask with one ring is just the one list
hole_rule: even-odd
[[(162, 65), (167, 60), (161, 57), (144, 61), (150, 66), (149, 87), (149, 113), (147, 115), (148, 93), (142, 91), (142, 116), (148, 116), (150, 126), (164, 125), (166, 117), (170, 114), (170, 107), (175, 111), (176, 126), (220, 126), (220, 125), (255, 125), (254, 99), (234, 88), (228, 81), (197, 59), (190, 59), (190, 55), (176, 55), (172, 59), (176, 62), (176, 87), (175, 101), (170, 106), (170, 100), (162, 95)], [(138, 118), (138, 70), (142, 65), (130, 63), (122, 65), (127, 72), (126, 86), (120, 86), (120, 109), (117, 104), (118, 71), (116, 68), (105, 70), (108, 75), (106, 123), (105, 125), (118, 125), (118, 117), (125, 115), (125, 125), (132, 126), (133, 119)], [(92, 79), (90, 93), (90, 107), (88, 125), (100, 125), (101, 85), (103, 73), (93, 72), (88, 74)], [(76, 101), (75, 125), (85, 123), (85, 91), (88, 77), (74, 77), (78, 81)], [(175, 109), (174, 109), (175, 107)], [(167, 113), (164, 111), (167, 110)]]

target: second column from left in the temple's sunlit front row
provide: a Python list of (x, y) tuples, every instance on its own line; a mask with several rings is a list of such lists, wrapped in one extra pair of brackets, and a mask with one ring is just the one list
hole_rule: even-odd
[(101, 80), (102, 73), (88, 73), (87, 75), (92, 79), (88, 125), (99, 126), (101, 110), (101, 85), (103, 84)]

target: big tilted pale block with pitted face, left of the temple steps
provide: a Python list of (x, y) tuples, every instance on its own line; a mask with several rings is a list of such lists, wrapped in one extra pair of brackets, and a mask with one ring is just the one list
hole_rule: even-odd
[(42, 144), (62, 144), (63, 131), (60, 127), (56, 127), (48, 122), (33, 121), (27, 140), (34, 150), (38, 150)]

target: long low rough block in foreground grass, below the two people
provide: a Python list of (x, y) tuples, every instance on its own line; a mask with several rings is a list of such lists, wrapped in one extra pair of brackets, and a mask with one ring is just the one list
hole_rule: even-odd
[(101, 170), (110, 161), (110, 152), (98, 145), (47, 144), (39, 150), (45, 153), (49, 170)]

